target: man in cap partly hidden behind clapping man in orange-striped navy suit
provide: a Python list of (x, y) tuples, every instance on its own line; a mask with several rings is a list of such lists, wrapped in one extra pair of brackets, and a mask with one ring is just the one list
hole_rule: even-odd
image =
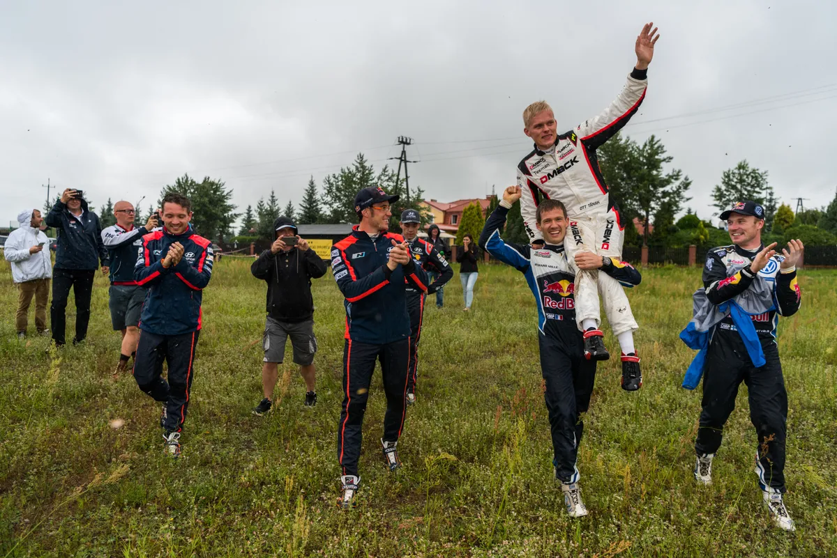
[[(413, 209), (404, 210), (401, 214), (401, 232), (404, 240), (407, 241), (410, 254), (416, 264), (438, 271), (438, 278), (427, 287), (427, 294), (432, 294), (444, 287), (446, 282), (454, 276), (454, 270), (444, 259), (444, 256), (437, 251), (433, 244), (419, 238), (419, 225), (421, 218), (419, 211)], [(407, 285), (407, 312), (410, 315), (410, 360), (407, 376), (407, 404), (416, 402), (416, 378), (419, 373), (419, 338), (421, 337), (421, 324), (424, 317), (425, 293), (419, 291), (411, 284)]]

